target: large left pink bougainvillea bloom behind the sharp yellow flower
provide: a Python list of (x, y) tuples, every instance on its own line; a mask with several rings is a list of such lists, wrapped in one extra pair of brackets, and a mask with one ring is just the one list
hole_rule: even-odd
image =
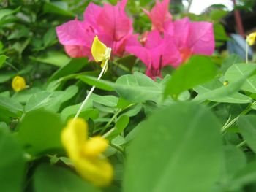
[(126, 4), (127, 0), (119, 1), (116, 6), (104, 4), (99, 7), (90, 3), (83, 14), (83, 21), (71, 20), (58, 26), (57, 36), (67, 54), (91, 59), (91, 44), (97, 35), (112, 48), (113, 55), (123, 55), (128, 39), (133, 36), (132, 20), (124, 11)]

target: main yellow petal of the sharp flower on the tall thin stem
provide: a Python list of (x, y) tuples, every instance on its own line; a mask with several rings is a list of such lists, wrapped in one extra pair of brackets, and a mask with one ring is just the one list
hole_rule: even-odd
[(91, 45), (91, 55), (94, 57), (96, 62), (103, 61), (105, 59), (105, 53), (108, 47), (104, 45), (99, 38), (94, 37), (94, 42)]

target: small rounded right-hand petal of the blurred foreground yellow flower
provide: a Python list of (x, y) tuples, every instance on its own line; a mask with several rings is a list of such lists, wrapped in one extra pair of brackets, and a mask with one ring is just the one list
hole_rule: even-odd
[(108, 147), (108, 140), (103, 137), (92, 137), (86, 142), (83, 148), (83, 154), (89, 157), (97, 157), (103, 153)]

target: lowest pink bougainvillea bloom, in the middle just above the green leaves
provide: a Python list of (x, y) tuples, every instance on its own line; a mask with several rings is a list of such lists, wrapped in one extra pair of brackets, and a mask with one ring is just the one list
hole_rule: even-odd
[(176, 67), (181, 64), (181, 55), (173, 42), (173, 38), (168, 35), (162, 38), (157, 30), (148, 33), (144, 47), (138, 43), (127, 46), (126, 50), (143, 61), (147, 66), (146, 74), (153, 79), (161, 77), (163, 66)]

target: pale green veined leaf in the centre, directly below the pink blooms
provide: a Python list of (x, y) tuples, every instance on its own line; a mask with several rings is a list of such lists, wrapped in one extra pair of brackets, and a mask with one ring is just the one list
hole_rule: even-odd
[(114, 86), (121, 97), (132, 102), (160, 99), (163, 91), (162, 85), (139, 72), (119, 77)]

